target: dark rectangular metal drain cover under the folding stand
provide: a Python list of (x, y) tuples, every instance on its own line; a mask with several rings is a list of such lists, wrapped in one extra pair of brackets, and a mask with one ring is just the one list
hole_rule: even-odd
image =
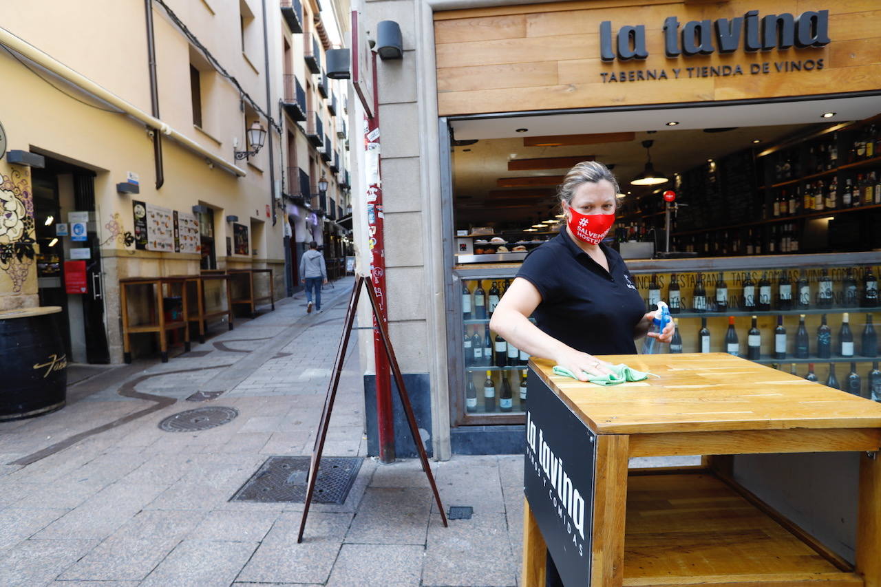
[[(361, 469), (361, 457), (322, 457), (315, 480), (315, 503), (342, 505)], [(310, 457), (269, 457), (231, 502), (306, 501)]]

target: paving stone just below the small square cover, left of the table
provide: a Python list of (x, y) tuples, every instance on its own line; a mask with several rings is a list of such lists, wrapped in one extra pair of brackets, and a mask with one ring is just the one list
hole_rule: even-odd
[(423, 585), (514, 585), (515, 566), (504, 514), (476, 513), (448, 528), (432, 516)]

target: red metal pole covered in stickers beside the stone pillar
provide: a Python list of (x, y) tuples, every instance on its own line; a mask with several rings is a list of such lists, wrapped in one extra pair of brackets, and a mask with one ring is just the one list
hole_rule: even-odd
[[(366, 147), (374, 143), (380, 145), (380, 108), (379, 85), (376, 74), (376, 53), (371, 51), (374, 60), (374, 117), (367, 118)], [(377, 166), (380, 163), (377, 162)], [(377, 172), (381, 177), (381, 169)], [(370, 286), (374, 289), (379, 312), (374, 313), (374, 363), (376, 371), (376, 420), (379, 431), (380, 462), (395, 462), (395, 421), (391, 403), (391, 377), (389, 375), (389, 358), (382, 343), (381, 332), (377, 320), (388, 329), (389, 312), (386, 302), (385, 285), (385, 244), (382, 237), (382, 188), (381, 182), (368, 180), (367, 184), (367, 226), (370, 231)], [(379, 316), (377, 316), (379, 314)]]

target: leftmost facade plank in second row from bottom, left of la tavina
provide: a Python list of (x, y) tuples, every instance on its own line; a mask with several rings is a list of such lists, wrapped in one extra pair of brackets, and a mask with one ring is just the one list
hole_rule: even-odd
[(438, 70), (438, 92), (557, 85), (557, 63), (506, 63)]

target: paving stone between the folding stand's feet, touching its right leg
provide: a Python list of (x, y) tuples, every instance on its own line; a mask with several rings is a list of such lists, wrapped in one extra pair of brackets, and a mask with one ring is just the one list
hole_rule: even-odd
[(424, 545), (432, 497), (423, 488), (368, 487), (345, 541)]

